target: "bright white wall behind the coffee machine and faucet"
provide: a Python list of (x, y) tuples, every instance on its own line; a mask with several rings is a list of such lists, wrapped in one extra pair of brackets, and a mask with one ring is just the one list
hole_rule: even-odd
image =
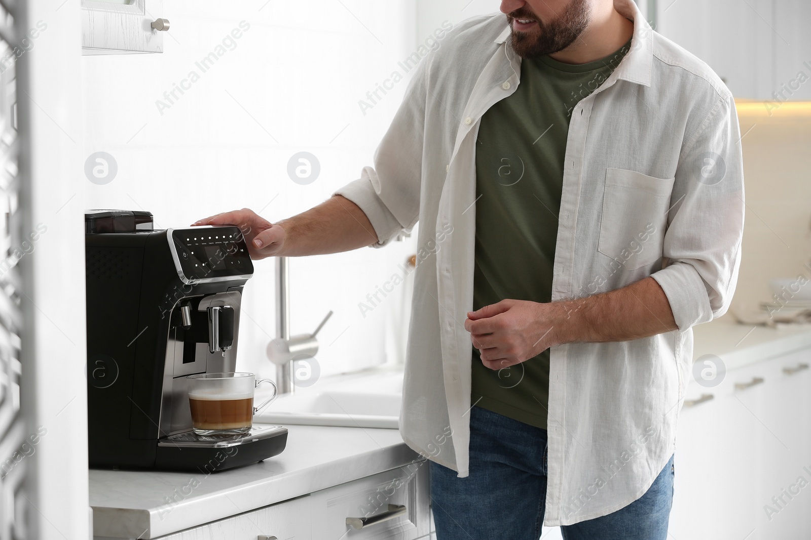
[[(371, 164), (406, 81), (366, 114), (358, 100), (414, 50), (414, 14), (414, 0), (165, 2), (164, 53), (82, 58), (84, 155), (106, 151), (118, 163), (108, 185), (85, 182), (84, 207), (150, 210), (157, 227), (183, 227), (243, 206), (273, 221), (323, 201)], [(195, 62), (240, 21), (250, 28), (203, 73)], [(200, 79), (169, 103), (164, 92), (192, 70)], [(320, 160), (310, 185), (287, 175), (298, 151)], [(290, 262), (291, 332), (311, 332), (336, 313), (320, 334), (322, 375), (384, 360), (397, 297), (367, 317), (358, 303), (411, 244)], [(275, 337), (273, 266), (255, 265), (239, 336), (238, 368), (265, 376), (274, 375), (264, 356)]]

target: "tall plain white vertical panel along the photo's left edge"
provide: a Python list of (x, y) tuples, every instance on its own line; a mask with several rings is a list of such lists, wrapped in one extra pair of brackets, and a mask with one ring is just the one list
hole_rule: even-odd
[(42, 436), (26, 458), (28, 500), (21, 491), (17, 507), (2, 512), (4, 520), (11, 518), (6, 512), (16, 511), (17, 521), (27, 516), (31, 522), (19, 538), (84, 540), (90, 523), (79, 1), (57, 6), (30, 0), (14, 7), (18, 36), (41, 29), (18, 60), (20, 205), (28, 221), (22, 233), (28, 236), (38, 224), (47, 228), (19, 261), (26, 291), (20, 303), (27, 315), (20, 398), (32, 430), (26, 437), (37, 429)]

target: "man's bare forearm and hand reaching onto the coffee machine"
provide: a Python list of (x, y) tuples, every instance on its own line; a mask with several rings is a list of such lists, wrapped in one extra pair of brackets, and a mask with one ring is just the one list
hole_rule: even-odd
[(237, 225), (253, 259), (338, 253), (378, 241), (363, 210), (341, 195), (277, 223), (243, 208), (200, 219), (193, 225)]

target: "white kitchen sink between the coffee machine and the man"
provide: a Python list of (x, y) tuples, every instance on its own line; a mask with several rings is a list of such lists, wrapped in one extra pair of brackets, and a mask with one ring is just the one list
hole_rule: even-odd
[[(397, 429), (402, 371), (333, 376), (314, 387), (295, 389), (254, 417), (256, 423)], [(255, 402), (264, 393), (257, 391)]]

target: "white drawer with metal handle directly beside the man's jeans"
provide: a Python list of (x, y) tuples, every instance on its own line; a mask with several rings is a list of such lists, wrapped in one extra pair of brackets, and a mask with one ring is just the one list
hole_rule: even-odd
[[(373, 474), (311, 495), (312, 538), (393, 538), (416, 540), (431, 532), (427, 461)], [(387, 521), (354, 529), (350, 517), (375, 517), (389, 505), (405, 513)]]

